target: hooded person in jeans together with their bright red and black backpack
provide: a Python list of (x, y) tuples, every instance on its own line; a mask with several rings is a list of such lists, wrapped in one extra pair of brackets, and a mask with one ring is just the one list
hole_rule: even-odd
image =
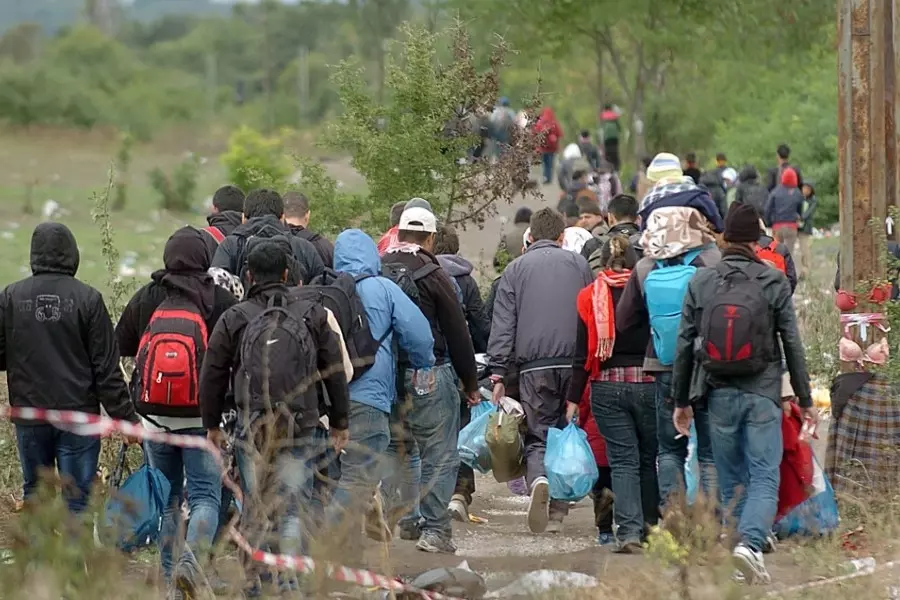
[[(200, 368), (209, 333), (237, 300), (207, 273), (206, 234), (183, 227), (163, 251), (164, 268), (128, 302), (116, 326), (122, 356), (135, 357), (132, 396), (144, 427), (203, 437)], [(171, 595), (202, 587), (198, 557), (212, 546), (221, 504), (220, 468), (206, 450), (147, 442), (147, 460), (171, 486), (159, 538), (160, 562)], [(187, 492), (187, 547), (174, 550), (181, 501)], [(173, 555), (181, 555), (177, 564)]]

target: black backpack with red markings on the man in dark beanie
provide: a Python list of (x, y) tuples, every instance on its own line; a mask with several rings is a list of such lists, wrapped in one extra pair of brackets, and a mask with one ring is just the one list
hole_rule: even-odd
[(700, 319), (700, 364), (711, 375), (756, 375), (776, 358), (772, 309), (757, 280), (769, 267), (753, 263), (746, 270), (723, 261), (722, 279)]

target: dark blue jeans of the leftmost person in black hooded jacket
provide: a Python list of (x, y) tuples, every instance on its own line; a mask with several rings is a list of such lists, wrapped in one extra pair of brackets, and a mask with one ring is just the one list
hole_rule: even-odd
[(16, 425), (25, 499), (33, 498), (43, 470), (59, 469), (63, 497), (73, 513), (87, 508), (100, 459), (98, 438), (75, 435), (52, 425)]

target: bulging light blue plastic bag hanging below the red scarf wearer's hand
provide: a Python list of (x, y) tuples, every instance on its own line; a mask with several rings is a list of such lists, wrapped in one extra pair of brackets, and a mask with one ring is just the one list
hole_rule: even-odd
[(600, 476), (587, 434), (575, 423), (547, 432), (544, 469), (554, 500), (578, 502), (591, 493)]

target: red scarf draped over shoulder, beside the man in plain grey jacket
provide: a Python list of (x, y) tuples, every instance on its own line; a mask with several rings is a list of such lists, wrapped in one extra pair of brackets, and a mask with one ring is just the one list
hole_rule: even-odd
[(616, 315), (613, 288), (623, 288), (631, 277), (630, 270), (606, 269), (594, 283), (578, 294), (578, 315), (588, 328), (588, 353), (584, 368), (591, 375), (609, 360), (616, 345)]

